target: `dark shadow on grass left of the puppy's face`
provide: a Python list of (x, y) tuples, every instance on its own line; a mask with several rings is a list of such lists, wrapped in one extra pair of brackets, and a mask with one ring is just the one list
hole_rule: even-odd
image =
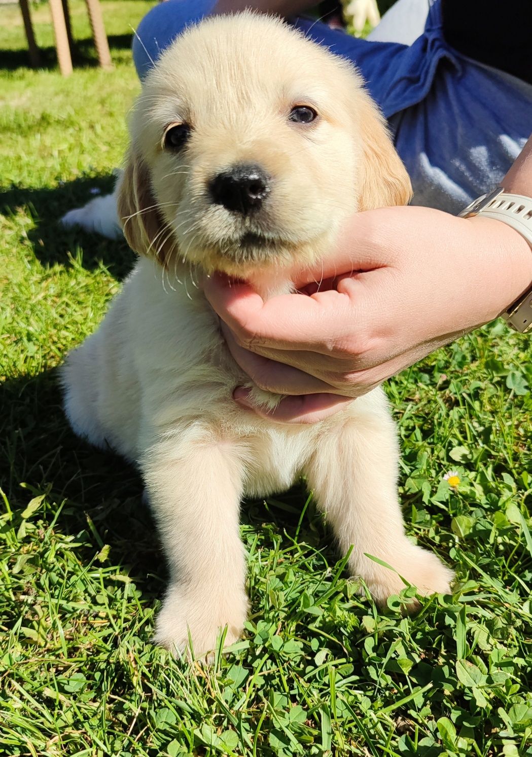
[(10, 215), (22, 207), (32, 217), (34, 226), (27, 232), (27, 238), (42, 265), (68, 264), (69, 253), (75, 255), (81, 248), (84, 268), (95, 269), (102, 262), (113, 276), (123, 279), (135, 262), (126, 241), (105, 239), (76, 226), (67, 229), (59, 223), (67, 210), (92, 200), (93, 189), (97, 188), (102, 195), (112, 192), (114, 181), (113, 175), (82, 176), (53, 188), (15, 186), (0, 192), (0, 212)]

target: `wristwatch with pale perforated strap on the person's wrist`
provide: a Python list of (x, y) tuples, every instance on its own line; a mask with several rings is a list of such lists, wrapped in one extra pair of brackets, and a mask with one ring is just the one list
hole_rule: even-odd
[[(459, 213), (460, 218), (471, 216), (486, 216), (507, 223), (524, 236), (532, 248), (532, 198), (512, 195), (496, 187)], [(502, 313), (502, 318), (515, 331), (524, 333), (532, 329), (532, 287)]]

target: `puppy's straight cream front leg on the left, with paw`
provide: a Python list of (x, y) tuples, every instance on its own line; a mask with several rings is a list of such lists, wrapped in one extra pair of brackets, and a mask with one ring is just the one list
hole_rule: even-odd
[[(193, 438), (191, 438), (191, 436)], [(213, 650), (220, 629), (238, 639), (247, 615), (244, 547), (238, 532), (243, 463), (238, 445), (182, 435), (152, 447), (142, 466), (170, 566), (155, 640), (183, 652)]]

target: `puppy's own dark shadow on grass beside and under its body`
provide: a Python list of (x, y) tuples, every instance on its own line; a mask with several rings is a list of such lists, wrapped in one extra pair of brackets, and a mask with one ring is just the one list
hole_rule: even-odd
[[(115, 455), (95, 449), (77, 438), (64, 416), (58, 371), (33, 378), (13, 378), (0, 394), (0, 482), (11, 509), (24, 509), (36, 494), (48, 492), (55, 503), (44, 515), (64, 534), (89, 535), (90, 546), (79, 547), (80, 559), (90, 562), (104, 544), (111, 547), (114, 565), (135, 581), (145, 597), (160, 598), (166, 586), (165, 559), (148, 504), (142, 502), (138, 472)], [(21, 484), (24, 484), (23, 486)], [(264, 532), (266, 543), (282, 548), (294, 540), (323, 550), (334, 564), (334, 550), (313, 508), (303, 516), (303, 486), (282, 497), (244, 502), (241, 522)], [(338, 557), (338, 556), (337, 556)]]

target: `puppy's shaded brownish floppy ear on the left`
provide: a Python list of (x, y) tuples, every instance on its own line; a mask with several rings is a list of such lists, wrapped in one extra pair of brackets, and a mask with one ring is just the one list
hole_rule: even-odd
[(133, 149), (118, 185), (117, 210), (129, 247), (166, 266), (176, 240), (160, 215), (148, 167)]

